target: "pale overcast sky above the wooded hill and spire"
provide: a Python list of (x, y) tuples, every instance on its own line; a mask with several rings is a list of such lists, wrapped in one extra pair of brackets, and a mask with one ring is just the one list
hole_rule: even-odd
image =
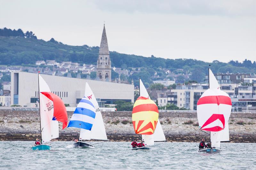
[[(256, 60), (256, 1), (6, 1), (0, 28), (110, 51), (206, 62)], [(111, 57), (111, 56), (110, 56)]]

